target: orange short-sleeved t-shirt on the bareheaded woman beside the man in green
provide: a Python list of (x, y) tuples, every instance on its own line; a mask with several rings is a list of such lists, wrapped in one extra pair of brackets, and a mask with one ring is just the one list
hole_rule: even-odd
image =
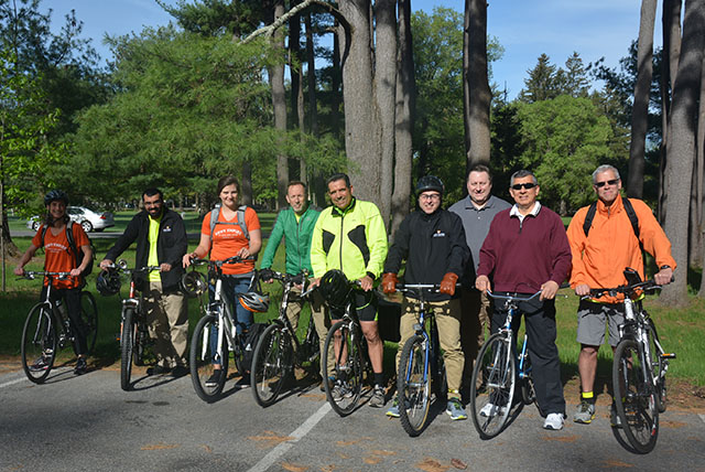
[[(213, 212), (208, 213), (203, 218), (200, 225), (200, 233), (210, 236), (210, 216)], [(238, 223), (237, 212), (232, 219), (226, 219), (223, 212), (218, 213), (218, 222), (226, 224), (216, 224), (213, 230), (213, 240), (210, 242), (210, 260), (224, 260), (228, 257), (232, 257), (243, 247), (249, 247), (250, 242), (247, 239), (242, 229)], [(249, 206), (245, 210), (245, 225), (248, 232), (260, 229), (260, 219), (257, 216), (257, 212)], [(223, 273), (226, 275), (240, 275), (248, 273), (254, 270), (254, 261), (248, 260), (242, 264), (227, 264), (223, 266)]]

